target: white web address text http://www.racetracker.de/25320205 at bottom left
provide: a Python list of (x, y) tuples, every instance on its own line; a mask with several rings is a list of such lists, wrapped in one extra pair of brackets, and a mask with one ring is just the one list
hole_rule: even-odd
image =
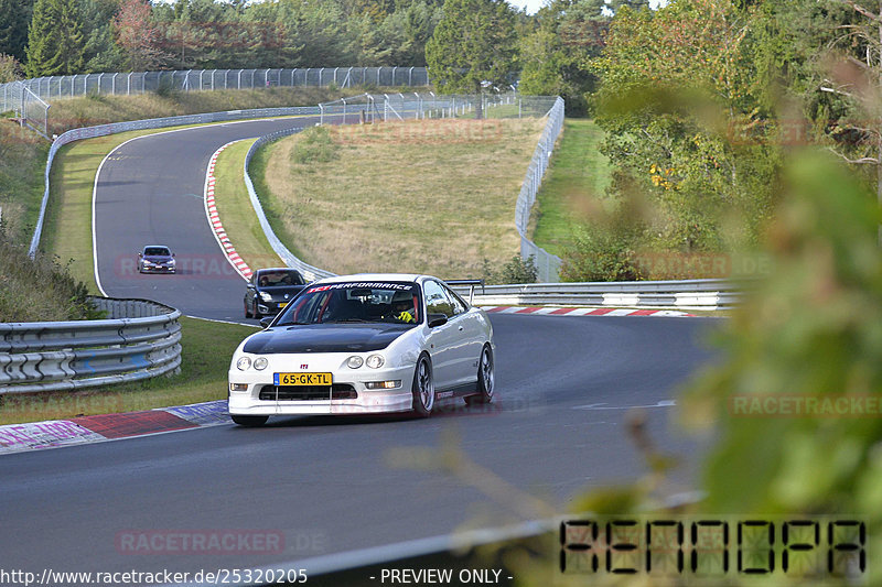
[(157, 572), (118, 570), (84, 572), (54, 570), (40, 572), (0, 568), (0, 585), (262, 585), (273, 583), (306, 583), (303, 568), (217, 568), (193, 573), (176, 573), (169, 569)]

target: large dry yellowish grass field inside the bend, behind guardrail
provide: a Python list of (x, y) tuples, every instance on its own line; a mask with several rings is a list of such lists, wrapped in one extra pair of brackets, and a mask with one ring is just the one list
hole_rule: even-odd
[(484, 260), (501, 267), (518, 250), (515, 203), (544, 124), (329, 127), (333, 146), (315, 143), (312, 159), (302, 149), (320, 132), (311, 129), (273, 143), (258, 161), (261, 203), (279, 238), (316, 267), (480, 276)]

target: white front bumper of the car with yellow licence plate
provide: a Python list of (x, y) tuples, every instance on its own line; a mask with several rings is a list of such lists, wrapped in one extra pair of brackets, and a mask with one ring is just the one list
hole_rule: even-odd
[[(345, 360), (349, 355), (341, 355), (341, 358), (335, 358), (333, 362), (340, 363)], [(300, 361), (300, 362), (298, 362)], [(310, 414), (383, 414), (392, 412), (408, 412), (412, 409), (411, 385), (413, 382), (413, 370), (416, 366), (409, 366), (397, 369), (322, 369), (321, 362), (316, 361), (314, 357), (309, 359), (297, 359), (290, 361), (292, 365), (301, 365), (309, 361), (311, 372), (331, 372), (334, 380), (334, 387), (341, 385), (349, 388), (354, 391), (355, 398), (333, 398), (331, 388), (326, 388), (327, 399), (304, 399), (304, 400), (288, 400), (288, 399), (271, 399), (275, 395), (276, 387), (273, 385), (273, 372), (291, 372), (302, 371), (299, 369), (290, 369), (290, 367), (281, 371), (273, 369), (270, 365), (263, 371), (255, 371), (248, 369), (246, 371), (238, 370), (235, 366), (228, 373), (228, 383), (246, 384), (245, 391), (232, 391), (229, 385), (227, 388), (229, 394), (229, 413), (233, 415), (310, 415)], [(278, 361), (277, 361), (278, 362)], [(314, 366), (314, 367), (313, 367)], [(366, 383), (369, 381), (401, 381), (400, 387), (395, 389), (367, 389)], [(280, 388), (283, 390), (291, 390), (293, 388)], [(261, 392), (265, 398), (260, 399)], [(335, 392), (336, 393), (336, 392)], [(347, 394), (352, 394), (351, 392)], [(284, 395), (284, 393), (280, 393)]]

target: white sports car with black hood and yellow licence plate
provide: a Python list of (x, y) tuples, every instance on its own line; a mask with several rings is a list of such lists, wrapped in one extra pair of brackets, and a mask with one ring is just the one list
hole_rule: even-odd
[(229, 414), (432, 413), (437, 399), (493, 400), (493, 327), (443, 281), (361, 274), (306, 286), (229, 366)]

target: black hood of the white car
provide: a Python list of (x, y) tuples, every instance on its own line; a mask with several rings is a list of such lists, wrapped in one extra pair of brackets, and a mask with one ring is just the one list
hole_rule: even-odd
[(281, 326), (254, 335), (243, 349), (276, 352), (369, 352), (388, 347), (412, 326), (398, 324), (311, 324)]

